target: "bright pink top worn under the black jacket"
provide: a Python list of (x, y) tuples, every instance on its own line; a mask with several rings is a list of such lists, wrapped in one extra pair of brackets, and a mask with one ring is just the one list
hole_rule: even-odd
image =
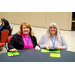
[[(23, 42), (24, 42), (24, 48), (23, 48), (23, 49), (26, 49), (26, 48), (33, 48), (33, 44), (32, 44), (32, 41), (31, 41), (30, 36), (29, 36), (29, 37), (25, 37), (25, 36), (22, 34), (22, 39), (23, 39)], [(27, 44), (27, 43), (28, 43), (28, 44)]]

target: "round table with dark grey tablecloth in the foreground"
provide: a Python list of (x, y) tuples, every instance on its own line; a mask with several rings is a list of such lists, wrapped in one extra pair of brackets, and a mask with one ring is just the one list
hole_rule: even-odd
[(75, 62), (75, 52), (61, 50), (61, 58), (50, 57), (50, 53), (42, 53), (34, 49), (19, 50), (20, 56), (8, 57), (0, 54), (0, 62)]

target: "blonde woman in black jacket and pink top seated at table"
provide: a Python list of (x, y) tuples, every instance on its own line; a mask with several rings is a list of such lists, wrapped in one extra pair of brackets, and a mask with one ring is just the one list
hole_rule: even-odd
[(20, 25), (20, 30), (13, 35), (9, 44), (9, 51), (17, 51), (18, 49), (33, 49), (40, 50), (37, 39), (32, 32), (31, 25), (27, 22), (23, 22)]

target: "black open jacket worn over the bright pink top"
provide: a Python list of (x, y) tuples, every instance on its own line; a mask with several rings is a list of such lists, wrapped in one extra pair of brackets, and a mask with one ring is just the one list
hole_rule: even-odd
[[(30, 36), (31, 37), (31, 41), (33, 44), (33, 47), (35, 48), (35, 46), (37, 45), (37, 39), (35, 36)], [(13, 49), (23, 49), (24, 48), (24, 42), (22, 39), (21, 35), (18, 35), (17, 33), (15, 35), (13, 35), (13, 37), (11, 38), (9, 44), (8, 44), (8, 48)]]

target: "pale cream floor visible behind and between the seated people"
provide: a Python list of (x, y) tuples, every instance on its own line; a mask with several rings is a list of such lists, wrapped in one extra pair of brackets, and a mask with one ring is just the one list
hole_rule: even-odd
[[(17, 24), (10, 24), (11, 27), (13, 27), (12, 34), (15, 34), (19, 31), (19, 26)], [(32, 27), (33, 32), (35, 33), (35, 36), (37, 37), (37, 42), (40, 40), (41, 36), (46, 33), (47, 28), (39, 28), (39, 27)], [(68, 45), (68, 51), (75, 52), (75, 31), (66, 31), (66, 30), (60, 30), (61, 34), (65, 37)], [(3, 47), (0, 51), (1, 53), (5, 53), (6, 48)]]

